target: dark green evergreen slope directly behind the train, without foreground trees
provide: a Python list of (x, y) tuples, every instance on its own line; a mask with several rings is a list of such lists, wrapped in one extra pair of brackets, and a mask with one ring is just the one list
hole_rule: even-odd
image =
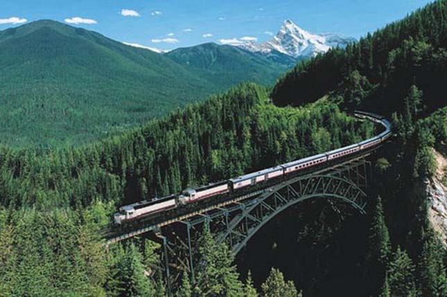
[(90, 215), (101, 220), (112, 210), (108, 201), (119, 206), (176, 193), (372, 134), (374, 125), (359, 123), (331, 103), (274, 107), (264, 88), (243, 84), (85, 147), (49, 152), (0, 147), (0, 203), (46, 210), (95, 201)]

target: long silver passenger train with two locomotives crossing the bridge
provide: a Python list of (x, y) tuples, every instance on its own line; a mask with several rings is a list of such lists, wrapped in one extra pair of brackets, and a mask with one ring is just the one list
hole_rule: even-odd
[(380, 145), (380, 143), (383, 143), (387, 140), (387, 138), (392, 136), (391, 124), (383, 116), (365, 111), (355, 111), (354, 116), (363, 120), (371, 120), (375, 123), (383, 125), (385, 127), (385, 131), (377, 136), (374, 136), (373, 138), (369, 138), (365, 141), (361, 141), (360, 143), (355, 143), (346, 147), (341, 147), (336, 150), (316, 154), (314, 156), (291, 161), (271, 168), (258, 170), (256, 172), (244, 174), (240, 177), (218, 181), (207, 186), (187, 188), (179, 195), (169, 195), (166, 197), (143, 200), (134, 204), (121, 206), (119, 211), (114, 214), (114, 222), (121, 225), (125, 222), (133, 221), (140, 217), (146, 217), (173, 208), (194, 204), (205, 199), (213, 199), (222, 194), (231, 193), (231, 195), (237, 195), (237, 193), (242, 190), (249, 187), (259, 186), (261, 183), (265, 183), (266, 181), (272, 181), (281, 177), (290, 177), (290, 174), (297, 174), (301, 170), (308, 170), (308, 168), (313, 166), (322, 165), (323, 163), (334, 161), (351, 154), (369, 150), (377, 145)]

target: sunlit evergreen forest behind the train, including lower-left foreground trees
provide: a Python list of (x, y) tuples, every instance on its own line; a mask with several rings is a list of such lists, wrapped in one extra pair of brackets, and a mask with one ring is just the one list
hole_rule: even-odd
[[(145, 249), (137, 242), (114, 246), (109, 253), (100, 249), (98, 231), (109, 224), (116, 206), (340, 147), (370, 137), (374, 129), (328, 102), (302, 109), (274, 107), (264, 87), (243, 84), (93, 145), (49, 152), (3, 147), (1, 289), (6, 296), (24, 291), (35, 296), (133, 296), (132, 290), (164, 296), (159, 275), (155, 282), (144, 282), (144, 269), (157, 267), (154, 246)], [(202, 253), (222, 269), (203, 271), (204, 281), (195, 283), (196, 289), (212, 285), (205, 280), (213, 273), (223, 274), (211, 278), (216, 285), (209, 289), (218, 291), (208, 296), (247, 289), (227, 247), (217, 248), (209, 236)], [(222, 279), (231, 288), (220, 287)], [(268, 282), (265, 291), (294, 288), (276, 270)], [(281, 282), (283, 287), (275, 287)], [(296, 296), (296, 290), (290, 292)]]

